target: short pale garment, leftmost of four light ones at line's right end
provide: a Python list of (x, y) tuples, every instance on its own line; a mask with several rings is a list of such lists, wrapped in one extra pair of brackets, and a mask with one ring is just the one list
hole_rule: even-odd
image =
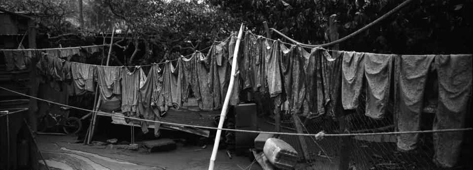
[(364, 76), (364, 53), (344, 52), (342, 61), (342, 105), (357, 109)]

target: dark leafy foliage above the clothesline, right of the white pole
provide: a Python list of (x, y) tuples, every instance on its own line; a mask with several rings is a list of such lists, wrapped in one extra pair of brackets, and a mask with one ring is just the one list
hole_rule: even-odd
[[(302, 43), (329, 42), (328, 19), (340, 37), (379, 18), (404, 0), (207, 0), (262, 34), (262, 22)], [(471, 0), (413, 0), (341, 50), (396, 54), (472, 53)], [(276, 36), (279, 37), (279, 36)]]

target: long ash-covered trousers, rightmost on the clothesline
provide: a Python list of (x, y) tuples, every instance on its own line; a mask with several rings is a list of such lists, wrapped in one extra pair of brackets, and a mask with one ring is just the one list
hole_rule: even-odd
[[(438, 108), (434, 130), (465, 128), (472, 97), (472, 55), (435, 57), (438, 73)], [(454, 167), (458, 161), (464, 131), (434, 133), (434, 162)]]

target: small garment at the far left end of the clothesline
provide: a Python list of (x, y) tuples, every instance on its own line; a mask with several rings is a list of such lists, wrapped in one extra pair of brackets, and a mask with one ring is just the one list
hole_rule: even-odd
[(22, 70), (26, 68), (25, 53), (22, 50), (2, 50), (5, 61), (6, 71), (15, 69)]

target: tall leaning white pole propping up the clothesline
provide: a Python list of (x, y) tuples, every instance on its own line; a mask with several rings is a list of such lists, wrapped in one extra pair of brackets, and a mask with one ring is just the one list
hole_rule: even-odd
[(220, 113), (220, 121), (218, 122), (218, 130), (217, 134), (215, 135), (215, 142), (214, 142), (214, 150), (212, 150), (212, 156), (210, 157), (210, 164), (209, 170), (214, 170), (215, 166), (215, 158), (217, 157), (217, 150), (218, 150), (218, 143), (220, 143), (220, 135), (223, 127), (223, 121), (225, 120), (225, 116), (228, 110), (228, 102), (230, 102), (230, 96), (233, 90), (233, 83), (235, 82), (235, 69), (237, 65), (237, 57), (238, 57), (238, 49), (240, 49), (240, 40), (243, 34), (243, 23), (241, 24), (240, 31), (238, 32), (237, 42), (235, 44), (235, 51), (233, 52), (233, 61), (232, 61), (232, 71), (230, 73), (230, 84), (228, 84), (227, 94), (225, 96), (225, 102), (223, 102), (222, 112)]

